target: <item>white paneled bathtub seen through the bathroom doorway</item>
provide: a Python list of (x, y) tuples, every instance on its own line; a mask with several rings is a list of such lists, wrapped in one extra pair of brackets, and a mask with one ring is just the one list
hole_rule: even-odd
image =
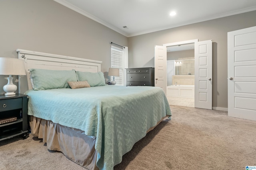
[(194, 98), (195, 86), (194, 85), (171, 85), (167, 86), (166, 96), (180, 97), (180, 98)]

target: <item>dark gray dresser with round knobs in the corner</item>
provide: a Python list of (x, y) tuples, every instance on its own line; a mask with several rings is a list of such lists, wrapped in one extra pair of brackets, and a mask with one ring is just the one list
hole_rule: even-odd
[(126, 68), (126, 86), (154, 86), (154, 67)]

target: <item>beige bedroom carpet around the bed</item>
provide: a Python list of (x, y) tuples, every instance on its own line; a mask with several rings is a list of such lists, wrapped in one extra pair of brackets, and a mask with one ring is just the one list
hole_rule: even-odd
[[(256, 121), (226, 111), (170, 106), (162, 121), (114, 170), (245, 170), (256, 166)], [(31, 135), (0, 142), (0, 169), (84, 170)]]

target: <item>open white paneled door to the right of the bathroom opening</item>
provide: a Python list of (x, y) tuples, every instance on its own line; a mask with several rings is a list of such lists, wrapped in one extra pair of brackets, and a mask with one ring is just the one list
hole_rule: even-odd
[(212, 109), (212, 40), (195, 42), (195, 107)]

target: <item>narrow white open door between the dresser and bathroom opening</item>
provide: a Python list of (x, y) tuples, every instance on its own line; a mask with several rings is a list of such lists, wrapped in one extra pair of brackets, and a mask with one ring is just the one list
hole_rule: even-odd
[(166, 95), (166, 61), (167, 50), (164, 46), (155, 45), (155, 86), (164, 90)]

